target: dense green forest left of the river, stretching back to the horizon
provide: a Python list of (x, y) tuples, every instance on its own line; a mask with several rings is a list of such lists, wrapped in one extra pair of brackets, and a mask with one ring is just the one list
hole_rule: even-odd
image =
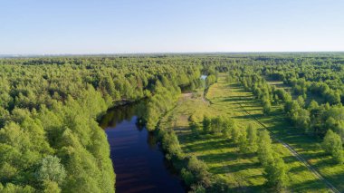
[(0, 60), (0, 189), (113, 192), (110, 149), (97, 118), (119, 101), (149, 98), (147, 125), (180, 87), (199, 84), (200, 61), (157, 57)]

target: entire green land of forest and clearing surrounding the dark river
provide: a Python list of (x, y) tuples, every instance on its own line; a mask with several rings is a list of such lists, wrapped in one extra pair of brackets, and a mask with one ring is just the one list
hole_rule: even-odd
[(141, 100), (186, 192), (343, 192), (343, 66), (343, 53), (0, 59), (0, 192), (114, 192), (100, 117)]

